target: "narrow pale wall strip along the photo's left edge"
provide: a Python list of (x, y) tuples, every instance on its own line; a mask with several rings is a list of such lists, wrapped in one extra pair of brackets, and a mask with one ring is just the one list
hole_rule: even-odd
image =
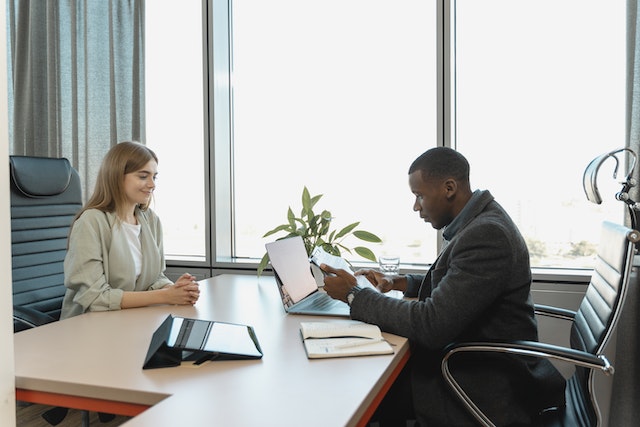
[(7, 132), (7, 5), (0, 0), (0, 425), (16, 424), (11, 309), (11, 216), (9, 213), (9, 134)]

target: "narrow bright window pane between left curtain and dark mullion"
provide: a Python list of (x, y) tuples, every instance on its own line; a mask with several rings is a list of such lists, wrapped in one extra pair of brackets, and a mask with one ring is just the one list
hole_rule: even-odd
[(202, 5), (146, 3), (147, 145), (158, 155), (152, 206), (167, 259), (204, 261), (205, 209)]

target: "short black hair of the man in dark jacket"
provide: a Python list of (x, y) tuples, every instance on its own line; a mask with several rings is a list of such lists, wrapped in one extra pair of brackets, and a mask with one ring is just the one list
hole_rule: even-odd
[(454, 178), (456, 181), (469, 182), (469, 162), (449, 147), (435, 147), (422, 153), (411, 163), (409, 174), (422, 172), (422, 179)]

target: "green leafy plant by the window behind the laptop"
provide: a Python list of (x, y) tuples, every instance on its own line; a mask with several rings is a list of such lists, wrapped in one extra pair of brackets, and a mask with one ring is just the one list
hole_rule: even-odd
[[(344, 245), (343, 241), (348, 236), (354, 236), (370, 243), (380, 243), (382, 240), (369, 231), (357, 230), (356, 227), (360, 225), (360, 222), (354, 222), (340, 230), (332, 230), (331, 221), (333, 217), (331, 216), (331, 212), (323, 210), (322, 213), (316, 214), (313, 210), (321, 198), (322, 194), (311, 196), (307, 187), (304, 187), (302, 190), (302, 210), (300, 211), (300, 216), (295, 216), (293, 210), (289, 207), (287, 211), (287, 223), (266, 232), (262, 237), (269, 237), (273, 234), (284, 232), (286, 234), (277, 240), (300, 236), (307, 250), (307, 255), (310, 255), (316, 246), (321, 246), (332, 255), (341, 256), (342, 251), (350, 254), (355, 252), (365, 259), (376, 262), (376, 256), (371, 249), (364, 246), (348, 248)], [(268, 264), (269, 254), (265, 253), (258, 265), (258, 276), (262, 274)]]

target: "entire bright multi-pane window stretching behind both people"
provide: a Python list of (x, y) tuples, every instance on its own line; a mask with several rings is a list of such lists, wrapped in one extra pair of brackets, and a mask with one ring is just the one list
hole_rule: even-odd
[(160, 155), (169, 258), (255, 266), (262, 235), (300, 210), (306, 186), (336, 227), (360, 221), (378, 234), (378, 255), (429, 263), (438, 236), (412, 211), (407, 169), (437, 144), (467, 156), (472, 185), (511, 214), (535, 267), (590, 267), (597, 224), (620, 221), (613, 165), (603, 205), (586, 202), (581, 178), (624, 146), (624, 1), (200, 6), (146, 10), (147, 140)]

